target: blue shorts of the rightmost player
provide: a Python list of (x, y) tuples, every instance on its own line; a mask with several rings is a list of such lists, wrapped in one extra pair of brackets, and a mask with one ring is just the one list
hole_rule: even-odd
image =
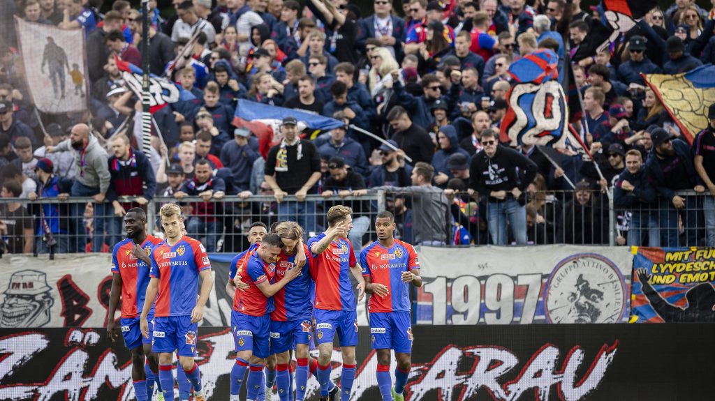
[(410, 311), (370, 313), (370, 342), (373, 350), (412, 352)]

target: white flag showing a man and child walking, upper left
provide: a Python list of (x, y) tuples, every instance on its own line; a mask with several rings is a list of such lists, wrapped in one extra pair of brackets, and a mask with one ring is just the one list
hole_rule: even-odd
[(86, 109), (84, 30), (59, 29), (18, 17), (15, 24), (31, 103), (43, 113)]

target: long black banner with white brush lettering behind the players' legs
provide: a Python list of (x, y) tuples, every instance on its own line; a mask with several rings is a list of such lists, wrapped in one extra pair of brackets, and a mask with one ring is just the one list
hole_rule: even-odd
[[(705, 357), (715, 352), (714, 325), (418, 326), (413, 333), (408, 401), (706, 400), (715, 391)], [(683, 347), (684, 338), (698, 346)], [(227, 329), (199, 328), (209, 401), (228, 399), (233, 350)], [(356, 354), (350, 399), (379, 400), (368, 328), (360, 329)], [(103, 329), (3, 329), (0, 355), (4, 400), (134, 400), (129, 351)], [(339, 348), (332, 359), (337, 383)], [(648, 367), (669, 368), (654, 375)], [(307, 387), (306, 400), (317, 400), (315, 378)]]

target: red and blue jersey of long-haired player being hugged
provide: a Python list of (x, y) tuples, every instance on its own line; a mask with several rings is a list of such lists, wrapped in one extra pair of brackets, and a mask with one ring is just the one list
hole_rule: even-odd
[[(310, 320), (312, 315), (312, 279), (310, 278), (310, 264), (312, 256), (307, 245), (303, 245), (307, 260), (302, 268), (300, 275), (294, 278), (290, 283), (273, 295), (273, 303), (275, 310), (270, 314), (270, 320), (277, 322), (285, 322), (287, 320)], [(275, 276), (276, 280), (282, 280), (285, 272), (293, 268), (295, 262), (295, 254), (286, 255), (281, 251), (278, 259), (275, 261)]]

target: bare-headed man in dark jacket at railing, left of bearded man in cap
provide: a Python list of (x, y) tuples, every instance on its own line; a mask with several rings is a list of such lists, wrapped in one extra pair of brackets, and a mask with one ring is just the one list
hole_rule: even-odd
[(628, 246), (640, 246), (648, 233), (648, 246), (661, 246), (661, 234), (656, 211), (657, 193), (643, 164), (641, 152), (626, 152), (626, 171), (618, 176), (613, 188), (613, 205), (631, 211), (628, 223)]

